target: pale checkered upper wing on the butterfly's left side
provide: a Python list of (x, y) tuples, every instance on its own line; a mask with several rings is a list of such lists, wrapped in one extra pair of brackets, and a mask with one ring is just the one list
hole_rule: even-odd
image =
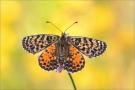
[(23, 38), (22, 46), (29, 53), (36, 54), (58, 41), (58, 39), (59, 36), (50, 34), (27, 36)]

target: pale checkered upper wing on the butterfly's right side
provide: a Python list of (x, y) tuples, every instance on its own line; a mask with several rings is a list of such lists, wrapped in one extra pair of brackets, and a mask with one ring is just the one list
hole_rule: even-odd
[(89, 58), (100, 56), (107, 48), (105, 42), (93, 38), (76, 36), (68, 38), (73, 46)]

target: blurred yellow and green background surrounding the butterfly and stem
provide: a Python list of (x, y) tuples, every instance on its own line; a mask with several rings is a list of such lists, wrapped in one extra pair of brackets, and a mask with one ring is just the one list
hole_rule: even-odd
[(38, 56), (22, 48), (25, 36), (61, 32), (105, 41), (106, 52), (86, 60), (85, 68), (72, 74), (78, 90), (133, 90), (134, 0), (117, 1), (1, 1), (1, 90), (72, 90), (66, 71), (46, 72)]

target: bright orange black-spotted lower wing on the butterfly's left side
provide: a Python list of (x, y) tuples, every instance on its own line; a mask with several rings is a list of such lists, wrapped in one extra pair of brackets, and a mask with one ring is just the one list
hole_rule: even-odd
[(56, 55), (56, 43), (53, 43), (39, 56), (39, 66), (47, 71), (57, 69), (59, 64)]

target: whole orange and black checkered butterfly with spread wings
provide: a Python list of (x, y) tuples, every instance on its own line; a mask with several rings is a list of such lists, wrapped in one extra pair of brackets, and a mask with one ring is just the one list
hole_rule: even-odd
[(103, 54), (107, 48), (107, 44), (103, 41), (69, 36), (65, 32), (62, 32), (61, 36), (52, 34), (26, 36), (22, 40), (22, 46), (32, 54), (43, 51), (38, 57), (38, 63), (42, 69), (46, 71), (56, 69), (58, 72), (64, 69), (72, 73), (84, 68), (85, 59), (82, 54), (88, 58), (94, 58)]

